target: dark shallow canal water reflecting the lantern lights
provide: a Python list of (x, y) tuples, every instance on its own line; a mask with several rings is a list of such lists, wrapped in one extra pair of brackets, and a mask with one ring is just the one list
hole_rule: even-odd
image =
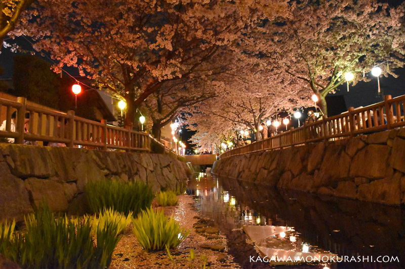
[[(229, 253), (243, 268), (270, 266), (250, 259), (254, 256), (256, 260), (258, 252), (247, 242), (242, 225), (286, 226), (294, 230), (283, 238), (268, 240), (266, 244), (271, 248), (325, 250), (350, 260), (280, 268), (405, 268), (405, 211), (399, 207), (278, 191), (204, 173), (189, 181), (187, 192), (196, 195), (200, 212), (214, 219), (227, 236)], [(394, 261), (371, 262), (377, 258)]]

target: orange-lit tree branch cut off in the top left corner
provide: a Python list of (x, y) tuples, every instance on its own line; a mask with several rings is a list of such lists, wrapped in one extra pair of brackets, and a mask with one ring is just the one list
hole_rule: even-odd
[(0, 50), (7, 34), (14, 30), (23, 11), (34, 0), (2, 0), (0, 2)]

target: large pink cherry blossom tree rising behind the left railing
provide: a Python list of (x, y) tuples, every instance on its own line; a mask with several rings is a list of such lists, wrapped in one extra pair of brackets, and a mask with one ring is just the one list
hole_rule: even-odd
[(124, 98), (130, 126), (141, 103), (166, 83), (211, 75), (209, 63), (227, 65), (223, 49), (240, 39), (247, 23), (288, 12), (286, 1), (263, 3), (43, 0), (24, 28), (37, 50), (58, 61), (57, 72), (75, 66)]

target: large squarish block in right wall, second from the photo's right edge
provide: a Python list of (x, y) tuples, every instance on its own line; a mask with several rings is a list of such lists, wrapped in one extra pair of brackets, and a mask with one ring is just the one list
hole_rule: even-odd
[(368, 145), (354, 157), (350, 166), (350, 177), (368, 179), (384, 178), (388, 167), (389, 146)]

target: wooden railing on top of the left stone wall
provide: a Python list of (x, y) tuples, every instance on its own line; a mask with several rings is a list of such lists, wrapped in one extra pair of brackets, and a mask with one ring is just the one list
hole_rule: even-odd
[[(24, 97), (18, 97), (17, 101), (0, 98), (0, 106), (6, 107), (6, 110), (0, 107), (0, 112), (6, 111), (5, 130), (0, 131), (0, 137), (14, 138), (17, 144), (45, 141), (63, 143), (69, 147), (81, 145), (104, 150), (150, 150), (149, 134), (108, 125), (106, 120), (99, 123), (76, 117), (74, 111), (65, 114), (28, 105)], [(13, 111), (17, 111), (15, 122), (11, 119)], [(26, 113), (29, 113), (27, 125)]]

